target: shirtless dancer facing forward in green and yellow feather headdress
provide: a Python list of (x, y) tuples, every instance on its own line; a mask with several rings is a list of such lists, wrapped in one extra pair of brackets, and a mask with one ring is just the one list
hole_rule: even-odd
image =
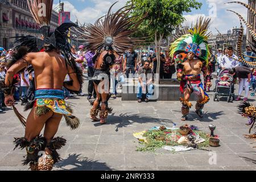
[[(177, 39), (171, 46), (172, 57), (179, 53), (187, 53), (187, 57), (182, 64), (177, 65), (177, 77), (181, 80), (180, 90), (184, 93), (184, 98), (180, 98), (183, 114), (181, 120), (187, 120), (189, 108), (192, 104), (189, 102), (191, 93), (199, 97), (196, 103), (196, 113), (199, 117), (203, 117), (203, 107), (209, 101), (209, 96), (204, 92), (203, 84), (201, 82), (200, 73), (203, 71), (207, 75), (207, 85), (210, 86), (210, 76), (207, 68), (209, 47), (207, 44), (208, 36), (205, 36), (206, 31), (202, 30), (202, 24), (208, 28), (210, 19), (200, 18), (196, 26), (190, 34), (183, 35)], [(197, 39), (194, 39), (197, 37)], [(199, 46), (200, 45), (200, 46)]]

